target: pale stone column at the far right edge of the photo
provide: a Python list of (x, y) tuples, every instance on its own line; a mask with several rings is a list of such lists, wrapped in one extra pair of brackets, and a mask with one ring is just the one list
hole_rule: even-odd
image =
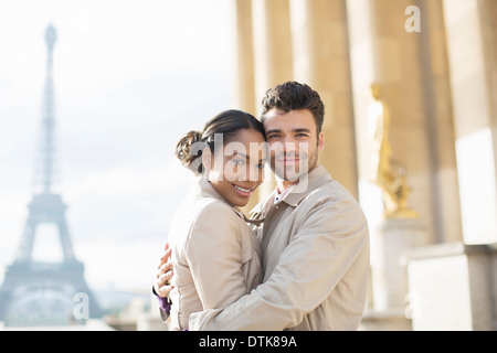
[(444, 1), (465, 244), (497, 242), (495, 1)]

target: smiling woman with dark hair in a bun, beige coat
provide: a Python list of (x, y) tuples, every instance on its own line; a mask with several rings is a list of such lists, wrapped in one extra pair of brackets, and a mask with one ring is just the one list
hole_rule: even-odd
[(262, 280), (258, 242), (239, 207), (263, 181), (264, 127), (247, 113), (226, 110), (202, 132), (188, 132), (176, 156), (200, 176), (169, 233), (171, 329), (186, 330), (192, 312), (223, 308)]

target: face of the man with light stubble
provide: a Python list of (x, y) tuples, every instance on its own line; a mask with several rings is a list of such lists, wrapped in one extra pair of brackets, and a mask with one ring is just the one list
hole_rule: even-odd
[(271, 109), (264, 129), (271, 150), (271, 168), (287, 182), (295, 182), (317, 165), (325, 146), (322, 132), (317, 135), (316, 121), (308, 109), (288, 113)]

